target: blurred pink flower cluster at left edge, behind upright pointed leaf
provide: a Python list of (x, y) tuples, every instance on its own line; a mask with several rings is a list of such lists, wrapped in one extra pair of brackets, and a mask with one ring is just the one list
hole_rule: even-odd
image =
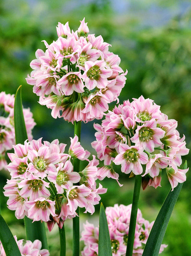
[[(7, 165), (6, 151), (12, 149), (12, 145), (15, 144), (14, 103), (14, 95), (0, 92), (0, 170)], [(36, 123), (29, 108), (23, 108), (23, 115), (28, 139), (31, 140), (32, 129)]]

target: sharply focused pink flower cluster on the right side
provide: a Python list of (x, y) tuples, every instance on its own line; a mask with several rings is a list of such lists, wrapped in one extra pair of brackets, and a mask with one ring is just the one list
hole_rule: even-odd
[(104, 160), (102, 178), (114, 176), (111, 175), (114, 162), (121, 165), (121, 172), (131, 176), (141, 174), (143, 189), (147, 185), (160, 186), (162, 169), (166, 170), (172, 189), (184, 182), (188, 168), (179, 167), (181, 156), (188, 154), (189, 149), (185, 136), (180, 138), (176, 127), (177, 121), (168, 119), (160, 106), (143, 96), (115, 106), (108, 111), (102, 125), (94, 124), (97, 132), (92, 147), (98, 158)]

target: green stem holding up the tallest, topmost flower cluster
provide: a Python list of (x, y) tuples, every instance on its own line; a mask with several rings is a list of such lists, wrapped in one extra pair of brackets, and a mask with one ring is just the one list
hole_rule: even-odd
[[(81, 137), (81, 121), (74, 122), (74, 135), (78, 136), (80, 142)], [(80, 160), (74, 158), (73, 170), (79, 172)], [(78, 184), (79, 185), (79, 184)], [(73, 256), (79, 256), (79, 207), (76, 210), (78, 216), (73, 218)]]

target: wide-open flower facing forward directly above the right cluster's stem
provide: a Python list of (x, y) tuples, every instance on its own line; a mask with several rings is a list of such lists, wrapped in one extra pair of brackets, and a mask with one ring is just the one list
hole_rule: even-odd
[(119, 152), (120, 154), (115, 157), (113, 162), (117, 165), (121, 164), (121, 172), (130, 173), (132, 171), (135, 175), (142, 173), (141, 164), (148, 162), (148, 156), (142, 148), (120, 144)]

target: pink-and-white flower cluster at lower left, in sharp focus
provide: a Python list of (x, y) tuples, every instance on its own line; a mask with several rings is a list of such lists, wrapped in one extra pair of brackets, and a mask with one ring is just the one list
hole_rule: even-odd
[[(24, 145), (13, 146), (15, 153), (8, 153), (11, 160), (6, 166), (11, 179), (7, 180), (4, 195), (7, 204), (15, 210), (18, 219), (28, 216), (33, 221), (45, 221), (49, 231), (55, 223), (60, 228), (66, 218), (76, 216), (77, 207), (85, 207), (85, 212), (94, 213), (94, 205), (99, 203), (99, 194), (107, 189), (99, 184), (96, 188), (97, 165), (99, 161), (84, 150), (78, 136), (71, 139), (69, 154), (66, 144), (39, 140), (25, 141)], [(81, 171), (73, 170), (75, 159), (87, 161)]]

